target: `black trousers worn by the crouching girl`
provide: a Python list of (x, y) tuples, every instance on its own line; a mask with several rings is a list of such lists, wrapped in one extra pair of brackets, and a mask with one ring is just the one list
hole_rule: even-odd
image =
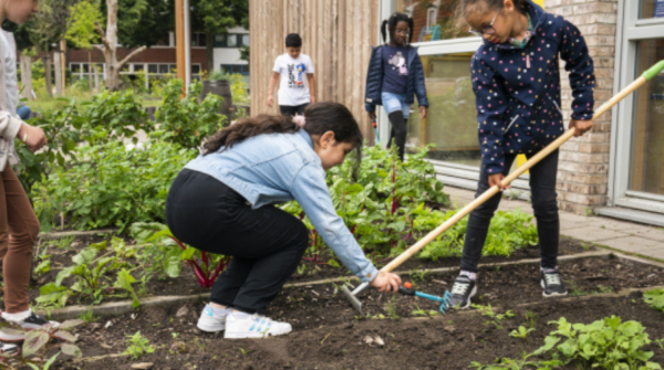
[(249, 314), (274, 299), (309, 245), (302, 221), (273, 205), (252, 210), (235, 190), (188, 169), (170, 187), (166, 222), (184, 243), (232, 256), (210, 300)]

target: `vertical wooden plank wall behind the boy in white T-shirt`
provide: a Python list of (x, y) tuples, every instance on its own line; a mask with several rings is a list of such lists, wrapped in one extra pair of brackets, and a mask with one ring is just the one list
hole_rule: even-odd
[(373, 138), (364, 85), (370, 46), (377, 43), (377, 13), (378, 0), (249, 0), (251, 113), (279, 113), (277, 104), (267, 105), (268, 86), (274, 60), (286, 52), (286, 35), (297, 32), (313, 62), (318, 101), (344, 104), (364, 137)]

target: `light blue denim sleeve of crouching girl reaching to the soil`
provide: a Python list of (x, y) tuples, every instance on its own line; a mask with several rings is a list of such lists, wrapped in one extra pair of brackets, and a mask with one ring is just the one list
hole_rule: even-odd
[(343, 265), (362, 282), (373, 281), (378, 272), (336, 214), (325, 182), (325, 172), (314, 163), (305, 165), (295, 176), (291, 193)]

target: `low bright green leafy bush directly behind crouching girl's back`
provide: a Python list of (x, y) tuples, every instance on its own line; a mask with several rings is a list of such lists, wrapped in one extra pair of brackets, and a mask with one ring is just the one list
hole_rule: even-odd
[(121, 141), (85, 145), (70, 168), (55, 167), (33, 189), (45, 229), (60, 212), (77, 230), (163, 221), (170, 182), (196, 151), (163, 141), (127, 149)]

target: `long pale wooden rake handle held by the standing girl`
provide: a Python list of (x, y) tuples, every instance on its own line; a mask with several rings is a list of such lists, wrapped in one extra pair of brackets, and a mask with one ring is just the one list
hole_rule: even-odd
[[(593, 119), (598, 119), (601, 115), (611, 109), (614, 105), (616, 105), (620, 101), (625, 98), (627, 95), (632, 94), (635, 89), (644, 85), (646, 82), (654, 78), (660, 72), (664, 70), (664, 61), (655, 64), (653, 67), (647, 70), (641, 77), (631, 83), (623, 91), (613, 96), (609, 102), (604, 103), (594, 114)], [(561, 145), (563, 145), (567, 140), (574, 136), (574, 130), (567, 130), (561, 137), (556, 139), (553, 142), (549, 144), (546, 148), (540, 150), (537, 155), (530, 158), (526, 163), (521, 167), (517, 168), (516, 171), (508, 175), (505, 179), (502, 179), (502, 184), (508, 186), (516, 178), (521, 176), (521, 173), (528, 171), (532, 166), (537, 165), (542, 158), (547, 157), (549, 154), (558, 149)], [(425, 247), (428, 243), (433, 242), (438, 235), (443, 234), (447, 229), (452, 228), (455, 223), (466, 216), (468, 213), (473, 212), (480, 204), (489, 200), (491, 197), (497, 194), (500, 191), (498, 186), (491, 187), (487, 191), (485, 191), (481, 195), (477, 197), (474, 201), (466, 204), (463, 209), (460, 209), (452, 219), (445, 221), (442, 225), (434, 229), (432, 232), (426, 234), (423, 239), (421, 239), (417, 243), (413, 244), (409, 249), (407, 249), (400, 256), (394, 258), (391, 263), (385, 265), (381, 271), (392, 272), (396, 267), (398, 267), (402, 263), (409, 260), (415, 253), (419, 252), (423, 247)]]

